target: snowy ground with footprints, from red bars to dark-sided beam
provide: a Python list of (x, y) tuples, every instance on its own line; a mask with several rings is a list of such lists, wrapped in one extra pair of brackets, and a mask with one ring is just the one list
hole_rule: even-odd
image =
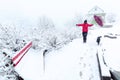
[(88, 35), (87, 43), (75, 39), (44, 59), (42, 52), (31, 49), (16, 70), (25, 80), (100, 80), (97, 47), (96, 39)]

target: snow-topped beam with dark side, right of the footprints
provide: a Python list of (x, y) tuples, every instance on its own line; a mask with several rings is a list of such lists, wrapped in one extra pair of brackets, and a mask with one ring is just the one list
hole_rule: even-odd
[(104, 58), (103, 58), (102, 52), (99, 50), (97, 53), (97, 59), (98, 59), (98, 67), (99, 67), (99, 71), (100, 71), (101, 80), (111, 80), (109, 68), (104, 63)]

